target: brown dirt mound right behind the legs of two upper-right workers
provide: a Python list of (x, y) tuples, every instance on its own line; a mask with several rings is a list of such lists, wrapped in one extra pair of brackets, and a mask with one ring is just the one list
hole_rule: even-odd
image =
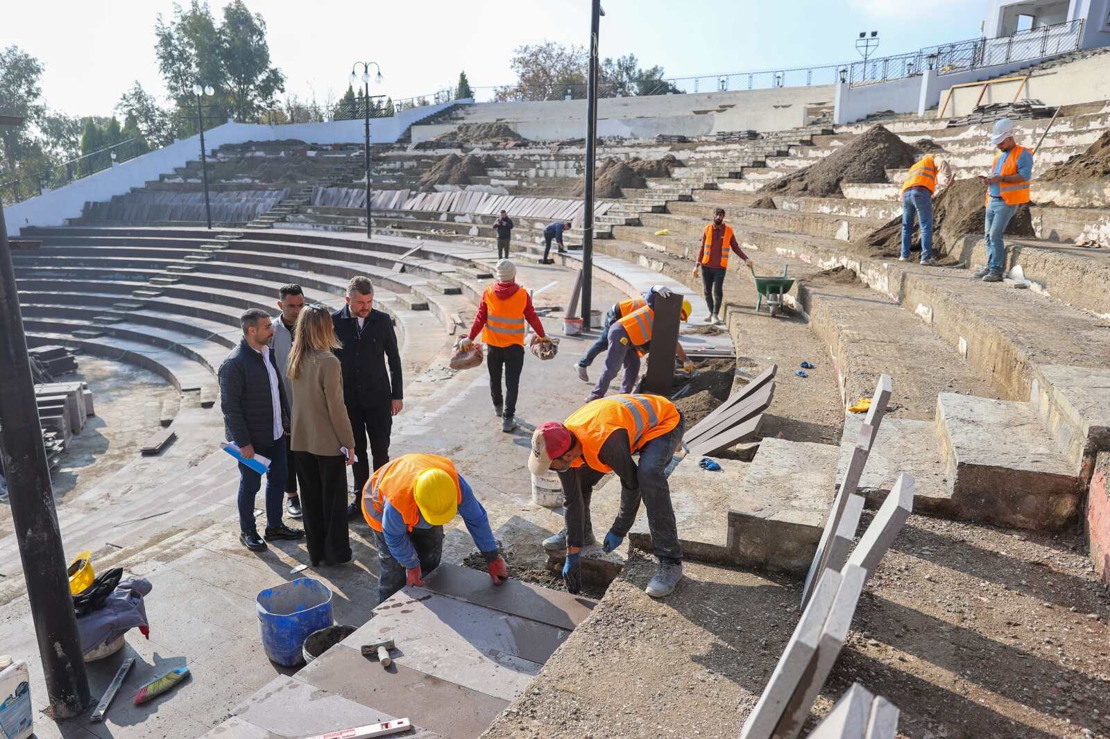
[[(981, 234), (983, 225), (983, 184), (977, 179), (957, 180), (932, 201), (932, 250), (939, 255), (953, 254), (963, 236)], [(1018, 209), (1006, 233), (1010, 236), (1037, 235), (1028, 205)], [(914, 230), (912, 249), (921, 249), (920, 229)], [(868, 256), (898, 256), (901, 253), (901, 216), (856, 241), (852, 251)]]

